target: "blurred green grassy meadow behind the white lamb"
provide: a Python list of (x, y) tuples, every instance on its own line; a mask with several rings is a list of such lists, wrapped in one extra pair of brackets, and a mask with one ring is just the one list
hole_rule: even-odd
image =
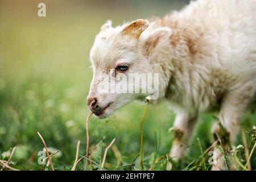
[[(38, 16), (38, 3), (46, 3), (46, 17)], [(89, 110), (86, 96), (92, 79), (89, 51), (101, 24), (113, 20), (114, 26), (137, 18), (162, 16), (179, 10), (188, 1), (0, 1), (0, 159), (10, 157), (16, 169), (39, 170), (39, 151), (43, 150), (36, 130), (53, 151), (57, 170), (71, 169), (77, 140), (79, 154), (86, 152), (85, 118)], [(102, 140), (108, 151), (105, 168), (139, 169), (140, 127), (144, 102), (122, 107), (108, 119), (92, 117), (89, 123), (90, 150)], [(156, 170), (165, 169), (173, 134), (175, 115), (167, 102), (149, 105), (144, 118), (144, 163), (148, 169), (154, 159)], [(184, 169), (213, 141), (210, 127), (217, 113), (203, 114), (182, 163)], [(248, 111), (242, 127), (251, 131), (256, 113)], [(246, 133), (250, 146), (251, 136)], [(237, 145), (242, 144), (241, 134)], [(113, 150), (114, 149), (114, 150)], [(243, 156), (244, 154), (242, 154)], [(206, 156), (207, 157), (207, 156)], [(244, 161), (241, 162), (245, 163)], [(131, 165), (133, 164), (133, 165)], [(255, 154), (251, 158), (256, 168)], [(197, 164), (192, 166), (197, 167)], [(187, 169), (196, 169), (190, 166)], [(1, 167), (0, 167), (1, 168)], [(44, 166), (43, 169), (50, 169)], [(77, 169), (84, 169), (84, 161)]]

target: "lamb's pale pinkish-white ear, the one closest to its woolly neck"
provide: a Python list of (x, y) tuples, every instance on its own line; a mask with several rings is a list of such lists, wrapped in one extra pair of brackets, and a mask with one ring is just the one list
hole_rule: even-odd
[(158, 46), (159, 40), (162, 38), (169, 38), (171, 36), (171, 28), (162, 27), (156, 29), (146, 40), (144, 40), (144, 47), (147, 52), (153, 51)]

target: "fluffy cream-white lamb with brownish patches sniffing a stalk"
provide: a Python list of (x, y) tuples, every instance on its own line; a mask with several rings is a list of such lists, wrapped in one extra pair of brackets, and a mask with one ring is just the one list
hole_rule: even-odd
[[(111, 78), (157, 73), (156, 101), (170, 102), (176, 113), (175, 133), (180, 134), (170, 157), (182, 159), (204, 111), (220, 110), (212, 132), (224, 137), (224, 128), (234, 144), (240, 118), (256, 96), (256, 1), (198, 0), (163, 18), (137, 19), (117, 27), (108, 21), (96, 36), (90, 60), (88, 106), (99, 118), (156, 92), (100, 92)], [(220, 150), (214, 152), (212, 169), (225, 170)]]

